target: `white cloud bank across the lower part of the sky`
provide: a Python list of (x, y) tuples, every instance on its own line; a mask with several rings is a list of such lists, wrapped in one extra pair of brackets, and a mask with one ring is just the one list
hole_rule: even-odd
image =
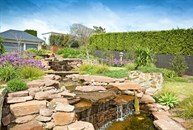
[[(142, 7), (140, 7), (142, 8)], [(26, 18), (17, 18), (13, 22), (2, 23), (1, 31), (8, 29), (34, 29), (38, 36), (45, 32), (55, 31), (68, 33), (70, 25), (81, 23), (90, 28), (102, 26), (108, 32), (121, 31), (143, 31), (143, 30), (165, 30), (172, 28), (190, 28), (193, 18), (173, 17), (160, 14), (155, 11), (142, 11), (145, 9), (117, 11), (103, 5), (102, 3), (91, 3), (83, 10), (61, 10), (56, 7), (41, 10), (30, 14)]]

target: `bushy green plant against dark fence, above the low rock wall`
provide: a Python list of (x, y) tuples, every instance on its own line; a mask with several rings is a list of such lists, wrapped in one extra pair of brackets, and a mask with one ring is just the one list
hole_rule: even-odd
[(153, 63), (153, 52), (148, 48), (139, 48), (136, 50), (135, 69), (141, 66), (148, 66)]

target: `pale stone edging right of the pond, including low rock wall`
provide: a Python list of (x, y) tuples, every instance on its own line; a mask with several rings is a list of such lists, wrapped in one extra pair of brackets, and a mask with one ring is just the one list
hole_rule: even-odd
[[(118, 88), (127, 95), (134, 95), (135, 91), (137, 92), (137, 97), (140, 98), (140, 103), (147, 105), (149, 111), (152, 112), (155, 119), (153, 123), (159, 130), (185, 130), (179, 123), (175, 122), (172, 117), (170, 117), (168, 106), (155, 103), (153, 94), (161, 89), (163, 83), (161, 73), (142, 73), (133, 71), (129, 73), (129, 76), (131, 80), (88, 75), (70, 75), (68, 77), (73, 80), (84, 80), (87, 84), (91, 83), (92, 85), (105, 86), (108, 84)], [(77, 90), (87, 91), (88, 88), (78, 87)]]

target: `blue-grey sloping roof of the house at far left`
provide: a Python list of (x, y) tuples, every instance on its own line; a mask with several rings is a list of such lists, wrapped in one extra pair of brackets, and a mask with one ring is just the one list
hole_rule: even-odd
[(21, 41), (30, 41), (30, 42), (44, 42), (42, 39), (35, 37), (27, 32), (19, 30), (7, 30), (0, 33), (0, 37), (7, 40), (18, 40)]

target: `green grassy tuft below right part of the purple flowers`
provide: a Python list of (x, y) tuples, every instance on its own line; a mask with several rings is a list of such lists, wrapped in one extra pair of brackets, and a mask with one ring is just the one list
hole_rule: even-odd
[(44, 75), (44, 71), (35, 66), (22, 66), (19, 69), (19, 74), (24, 79), (37, 79)]

